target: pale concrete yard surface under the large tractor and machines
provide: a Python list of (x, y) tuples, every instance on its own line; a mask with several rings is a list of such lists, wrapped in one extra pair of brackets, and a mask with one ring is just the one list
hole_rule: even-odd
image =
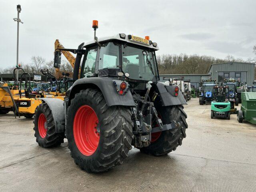
[[(240, 108), (240, 106), (238, 107)], [(256, 191), (256, 125), (211, 119), (198, 98), (185, 106), (187, 137), (176, 151), (154, 157), (132, 149), (121, 166), (88, 174), (74, 164), (67, 141), (36, 143), (33, 120), (0, 116), (0, 191)]]

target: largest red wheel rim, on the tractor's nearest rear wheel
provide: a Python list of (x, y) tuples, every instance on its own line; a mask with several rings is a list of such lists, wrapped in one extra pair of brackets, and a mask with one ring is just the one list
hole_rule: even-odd
[(78, 150), (86, 156), (94, 154), (98, 147), (98, 123), (98, 117), (90, 106), (83, 105), (76, 111), (73, 123), (74, 139)]

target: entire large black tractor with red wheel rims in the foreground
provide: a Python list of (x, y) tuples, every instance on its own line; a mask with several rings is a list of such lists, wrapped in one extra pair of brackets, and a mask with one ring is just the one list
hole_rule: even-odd
[[(93, 22), (94, 31), (98, 22)], [(42, 147), (68, 139), (75, 163), (86, 172), (104, 172), (123, 163), (129, 150), (161, 156), (186, 137), (186, 104), (178, 86), (160, 82), (148, 37), (118, 34), (61, 49), (76, 54), (73, 84), (64, 101), (42, 98), (34, 131)], [(60, 67), (55, 50), (54, 67)]]

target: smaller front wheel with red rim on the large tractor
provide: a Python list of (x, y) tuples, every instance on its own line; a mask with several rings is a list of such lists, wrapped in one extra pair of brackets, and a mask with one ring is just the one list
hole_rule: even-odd
[(64, 133), (56, 133), (52, 111), (46, 103), (36, 107), (34, 131), (36, 142), (41, 147), (56, 147), (64, 142)]

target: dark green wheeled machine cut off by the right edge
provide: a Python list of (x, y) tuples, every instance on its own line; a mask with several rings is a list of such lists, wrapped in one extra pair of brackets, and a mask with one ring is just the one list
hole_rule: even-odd
[(237, 112), (237, 120), (242, 123), (244, 120), (256, 124), (256, 86), (248, 87), (249, 92), (242, 92), (241, 109)]

